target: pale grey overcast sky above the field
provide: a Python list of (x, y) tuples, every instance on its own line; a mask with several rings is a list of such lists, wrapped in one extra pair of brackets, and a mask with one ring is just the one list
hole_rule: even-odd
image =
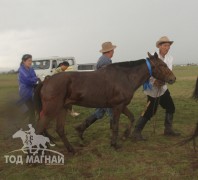
[(145, 58), (161, 36), (174, 41), (174, 63), (198, 63), (197, 0), (0, 0), (0, 68), (21, 57), (74, 56), (96, 62), (101, 43), (113, 61)]

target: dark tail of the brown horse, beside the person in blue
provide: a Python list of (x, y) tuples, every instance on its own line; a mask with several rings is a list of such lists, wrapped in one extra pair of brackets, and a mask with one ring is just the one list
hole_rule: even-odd
[(38, 115), (40, 115), (40, 112), (42, 110), (42, 101), (41, 101), (41, 96), (40, 96), (42, 87), (43, 87), (43, 82), (40, 82), (34, 89), (34, 97), (33, 97), (34, 107), (35, 107), (35, 111), (38, 113)]

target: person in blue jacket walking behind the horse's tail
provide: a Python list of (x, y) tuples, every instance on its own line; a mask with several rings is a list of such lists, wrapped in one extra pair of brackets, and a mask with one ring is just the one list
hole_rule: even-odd
[(35, 125), (35, 111), (33, 103), (33, 91), (38, 81), (32, 66), (32, 55), (25, 54), (19, 67), (19, 95), (20, 102), (28, 108), (29, 123)]

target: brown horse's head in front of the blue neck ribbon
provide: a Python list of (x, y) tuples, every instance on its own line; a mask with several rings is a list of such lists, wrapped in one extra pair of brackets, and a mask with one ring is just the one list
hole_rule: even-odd
[(173, 72), (168, 68), (165, 62), (163, 62), (155, 53), (153, 56), (148, 53), (152, 67), (152, 76), (163, 82), (173, 84), (176, 81), (176, 77)]

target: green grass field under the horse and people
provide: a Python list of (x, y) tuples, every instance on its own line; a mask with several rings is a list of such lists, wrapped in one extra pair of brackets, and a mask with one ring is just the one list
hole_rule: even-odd
[[(174, 128), (182, 133), (181, 137), (163, 136), (165, 113), (159, 108), (156, 116), (143, 131), (148, 141), (135, 143), (131, 139), (120, 140), (122, 148), (115, 151), (109, 143), (111, 136), (109, 120), (108, 117), (104, 117), (85, 132), (85, 140), (82, 142), (73, 127), (81, 123), (93, 109), (74, 107), (81, 114), (77, 118), (68, 116), (65, 130), (69, 141), (77, 151), (76, 155), (68, 154), (53, 128), (50, 129), (58, 144), (53, 149), (65, 155), (65, 165), (6, 164), (4, 155), (22, 147), (21, 140), (12, 139), (12, 135), (18, 130), (17, 127), (28, 129), (28, 122), (15, 119), (7, 122), (0, 115), (0, 179), (198, 179), (198, 153), (194, 152), (192, 143), (175, 146), (193, 132), (198, 121), (198, 103), (191, 99), (198, 67), (175, 67), (174, 73), (177, 82), (169, 86), (169, 89), (176, 106)], [(17, 97), (17, 93), (17, 76), (0, 75), (0, 108), (4, 108), (8, 99)], [(136, 119), (145, 105), (146, 96), (140, 88), (129, 105)], [(155, 134), (154, 121), (156, 121)], [(122, 115), (120, 137), (128, 122)]]

